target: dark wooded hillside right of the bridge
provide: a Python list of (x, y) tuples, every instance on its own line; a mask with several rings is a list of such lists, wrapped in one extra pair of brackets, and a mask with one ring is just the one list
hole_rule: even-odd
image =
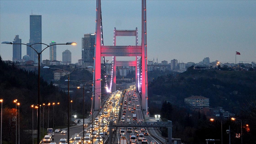
[[(228, 143), (226, 129), (231, 126), (231, 137), (241, 133), (241, 121), (218, 118), (209, 121), (210, 115), (193, 111), (184, 103), (184, 98), (201, 95), (210, 100), (210, 108), (223, 107), (243, 121), (243, 143), (255, 142), (256, 135), (256, 72), (194, 70), (176, 76), (159, 76), (148, 85), (148, 105), (151, 114), (159, 114), (163, 120), (173, 122), (173, 137), (185, 143), (206, 143), (205, 139), (220, 139), (223, 119), (223, 143)], [(239, 125), (240, 123), (240, 125)], [(249, 131), (246, 128), (249, 124)], [(240, 132), (239, 132), (240, 130)], [(163, 131), (165, 135), (166, 131)], [(231, 143), (241, 143), (231, 138)]]

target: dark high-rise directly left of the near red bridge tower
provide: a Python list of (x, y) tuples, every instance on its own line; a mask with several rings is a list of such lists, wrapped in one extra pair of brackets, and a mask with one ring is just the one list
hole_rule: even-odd
[(95, 50), (94, 44), (95, 34), (84, 34), (84, 38), (82, 38), (82, 63), (89, 63), (89, 65), (93, 65)]

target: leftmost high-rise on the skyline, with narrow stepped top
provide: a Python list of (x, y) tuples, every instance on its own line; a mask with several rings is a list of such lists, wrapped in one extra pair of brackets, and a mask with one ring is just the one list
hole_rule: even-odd
[(13, 40), (14, 41), (12, 41), (12, 61), (15, 62), (21, 60), (21, 44), (17, 44), (21, 43), (21, 39), (19, 39), (19, 35), (15, 35), (15, 38)]

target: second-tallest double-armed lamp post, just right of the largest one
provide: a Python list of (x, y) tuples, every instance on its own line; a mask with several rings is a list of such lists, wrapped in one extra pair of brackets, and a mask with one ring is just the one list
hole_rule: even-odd
[[(61, 70), (61, 71), (63, 71), (67, 76), (68, 76), (68, 139), (69, 139), (69, 118), (70, 118), (70, 116), (69, 116), (69, 76), (70, 76), (70, 74), (73, 72), (73, 71), (75, 71), (75, 70), (78, 70), (78, 69), (85, 69), (85, 68), (76, 68), (76, 69), (74, 69), (73, 71), (71, 71), (70, 73), (67, 73), (67, 72), (65, 72), (64, 70), (62, 70), (62, 69), (60, 69), (60, 68), (50, 68), (50, 67), (48, 67), (48, 66), (45, 66), (45, 67), (43, 67), (43, 68), (48, 68), (48, 69), (58, 69), (58, 70)], [(93, 68), (92, 66), (88, 66), (88, 67), (86, 67), (86, 68)], [(69, 140), (68, 140), (68, 144), (69, 144)]]

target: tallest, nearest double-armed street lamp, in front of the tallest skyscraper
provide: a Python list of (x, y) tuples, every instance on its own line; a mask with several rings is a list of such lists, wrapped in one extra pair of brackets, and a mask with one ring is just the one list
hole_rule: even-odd
[[(2, 44), (22, 44), (22, 43), (12, 43), (10, 41), (3, 41)], [(72, 45), (76, 45), (76, 42), (67, 42), (65, 44), (52, 44), (52, 45), (47, 45), (47, 44), (44, 44), (46, 45), (47, 47), (44, 48), (41, 52), (37, 52), (36, 49), (34, 49), (32, 47), (32, 45), (35, 45), (35, 44), (44, 44), (44, 43), (34, 43), (34, 44), (31, 44), (31, 45), (28, 45), (28, 44), (23, 44), (23, 45), (26, 45), (28, 47), (31, 47), (38, 55), (38, 103), (37, 105), (40, 105), (40, 55), (41, 53), (48, 47), (51, 47), (53, 45), (68, 45), (68, 44), (72, 44)], [(37, 111), (39, 111), (39, 109), (37, 109)], [(39, 113), (39, 112), (38, 112)], [(16, 123), (17, 125), (17, 123)], [(37, 118), (37, 143), (39, 143), (40, 141), (40, 115), (38, 115), (38, 118)], [(16, 144), (17, 144), (17, 127), (16, 127)]]

